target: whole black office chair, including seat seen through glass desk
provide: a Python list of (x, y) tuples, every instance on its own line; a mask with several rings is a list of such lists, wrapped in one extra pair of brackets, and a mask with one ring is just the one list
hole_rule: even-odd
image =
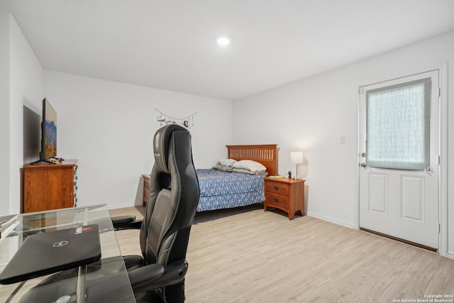
[[(120, 220), (116, 229), (140, 226), (142, 255), (124, 256), (129, 280), (137, 302), (184, 302), (184, 277), (189, 231), (199, 202), (199, 181), (192, 162), (191, 136), (187, 128), (170, 124), (157, 130), (153, 141), (155, 164), (150, 176), (150, 191), (141, 225)], [(118, 301), (115, 275), (103, 259), (88, 266), (99, 270), (104, 279), (90, 280), (87, 299), (94, 302)], [(59, 272), (46, 278), (25, 294), (21, 302), (55, 302), (63, 294), (75, 292), (77, 269)], [(111, 289), (112, 291), (109, 291)], [(117, 297), (116, 297), (117, 296)], [(38, 301), (36, 301), (38, 299)]]

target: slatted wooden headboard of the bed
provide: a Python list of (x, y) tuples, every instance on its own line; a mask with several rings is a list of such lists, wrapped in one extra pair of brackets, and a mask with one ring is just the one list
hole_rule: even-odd
[(229, 159), (254, 160), (267, 167), (268, 175), (277, 175), (277, 144), (226, 145)]

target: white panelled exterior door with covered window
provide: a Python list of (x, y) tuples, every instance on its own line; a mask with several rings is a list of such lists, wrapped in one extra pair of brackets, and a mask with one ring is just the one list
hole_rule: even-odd
[(360, 228), (438, 248), (438, 70), (360, 89)]

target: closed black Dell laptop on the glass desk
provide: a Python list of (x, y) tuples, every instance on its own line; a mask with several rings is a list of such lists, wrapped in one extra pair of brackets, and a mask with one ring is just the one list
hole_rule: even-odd
[(98, 225), (35, 233), (23, 241), (0, 273), (0, 284), (11, 284), (101, 259)]

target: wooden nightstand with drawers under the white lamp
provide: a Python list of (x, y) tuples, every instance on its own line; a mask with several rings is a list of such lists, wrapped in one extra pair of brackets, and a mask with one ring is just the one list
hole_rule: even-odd
[(290, 220), (297, 211), (304, 216), (304, 180), (270, 177), (264, 179), (266, 200), (263, 209), (265, 211), (270, 206), (282, 209), (287, 212)]

